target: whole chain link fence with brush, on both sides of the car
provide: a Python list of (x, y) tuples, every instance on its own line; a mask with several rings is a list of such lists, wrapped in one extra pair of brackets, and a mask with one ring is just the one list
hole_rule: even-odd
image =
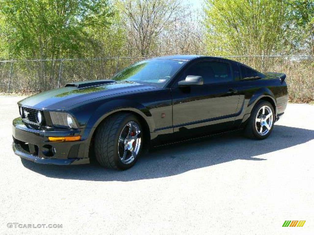
[[(109, 79), (148, 57), (0, 61), (0, 92), (37, 93), (68, 82)], [(314, 101), (313, 56), (228, 56), (259, 71), (287, 75), (290, 101)]]

